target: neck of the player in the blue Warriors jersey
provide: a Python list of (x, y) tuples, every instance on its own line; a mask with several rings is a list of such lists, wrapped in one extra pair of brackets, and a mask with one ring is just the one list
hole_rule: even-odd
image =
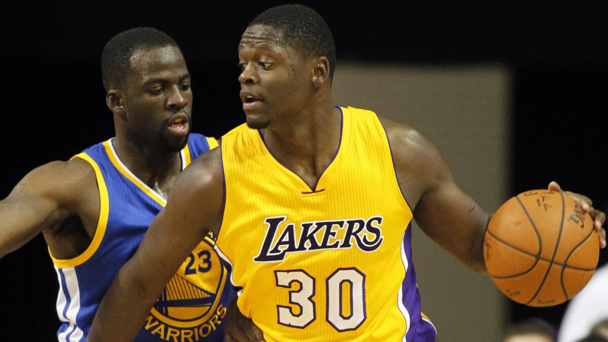
[(119, 130), (112, 145), (123, 164), (139, 180), (166, 198), (168, 188), (181, 171), (179, 152), (163, 152), (156, 144), (139, 142)]

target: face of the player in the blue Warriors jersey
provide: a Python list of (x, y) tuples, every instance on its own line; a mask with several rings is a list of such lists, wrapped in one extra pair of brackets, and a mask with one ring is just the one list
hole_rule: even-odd
[(126, 125), (133, 138), (162, 152), (184, 148), (192, 121), (192, 89), (177, 47), (135, 51), (123, 95)]

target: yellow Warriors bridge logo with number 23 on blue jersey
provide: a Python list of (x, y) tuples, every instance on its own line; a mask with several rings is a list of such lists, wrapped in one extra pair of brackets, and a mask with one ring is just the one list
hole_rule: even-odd
[(226, 307), (221, 295), (227, 270), (206, 237), (165, 286), (143, 326), (165, 341), (198, 341), (222, 322)]

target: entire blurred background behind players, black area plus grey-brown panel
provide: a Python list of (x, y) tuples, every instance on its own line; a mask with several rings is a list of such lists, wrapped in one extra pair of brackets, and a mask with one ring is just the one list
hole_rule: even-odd
[[(132, 27), (156, 27), (180, 45), (193, 76), (193, 131), (219, 137), (244, 122), (237, 44), (251, 19), (282, 3), (3, 5), (0, 198), (34, 167), (113, 136), (100, 55)], [(556, 180), (608, 212), (608, 2), (300, 3), (333, 31), (336, 104), (423, 131), (486, 210)], [(567, 303), (517, 305), (417, 228), (414, 236), (423, 311), (438, 341), (498, 340), (531, 316), (559, 326)], [(600, 265), (607, 260), (603, 251)], [(43, 238), (1, 259), (0, 274), (0, 340), (54, 340), (58, 285)]]

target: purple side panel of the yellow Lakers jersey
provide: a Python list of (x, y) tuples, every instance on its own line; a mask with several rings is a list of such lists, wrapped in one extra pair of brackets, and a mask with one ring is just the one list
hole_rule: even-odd
[(416, 284), (416, 272), (412, 262), (412, 223), (407, 225), (403, 234), (403, 250), (406, 253), (407, 271), (406, 277), (401, 285), (403, 291), (403, 305), (410, 314), (410, 327), (406, 335), (407, 342), (432, 342), (435, 341), (435, 327), (428, 321), (422, 319), (420, 313), (420, 293)]

